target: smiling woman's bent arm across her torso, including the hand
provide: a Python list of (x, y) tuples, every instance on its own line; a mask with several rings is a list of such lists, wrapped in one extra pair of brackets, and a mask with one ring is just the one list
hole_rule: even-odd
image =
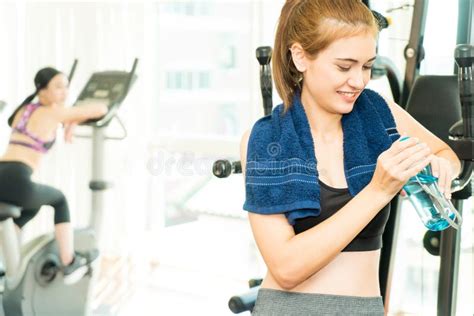
[[(249, 132), (241, 142), (245, 172)], [(430, 162), (430, 151), (415, 139), (395, 142), (382, 153), (370, 184), (329, 219), (295, 235), (285, 215), (249, 213), (260, 253), (278, 284), (291, 289), (326, 266), (374, 216), (390, 202), (411, 176)]]

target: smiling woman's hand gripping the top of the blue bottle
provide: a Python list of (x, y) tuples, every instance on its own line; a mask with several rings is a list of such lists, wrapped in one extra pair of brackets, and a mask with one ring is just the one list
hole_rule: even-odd
[(395, 196), (413, 176), (431, 162), (431, 149), (417, 138), (397, 140), (377, 159), (377, 166), (369, 185), (390, 196)]

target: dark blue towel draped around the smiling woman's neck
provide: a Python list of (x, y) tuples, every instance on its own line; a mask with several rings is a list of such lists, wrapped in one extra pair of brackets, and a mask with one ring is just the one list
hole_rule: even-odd
[[(298, 218), (320, 214), (320, 187), (313, 137), (300, 93), (290, 109), (283, 104), (252, 128), (245, 174), (244, 210), (284, 213), (293, 225)], [(400, 135), (385, 100), (364, 89), (354, 108), (341, 118), (344, 173), (352, 196), (372, 179), (378, 156)], [(318, 155), (330, 153), (318, 153)]]

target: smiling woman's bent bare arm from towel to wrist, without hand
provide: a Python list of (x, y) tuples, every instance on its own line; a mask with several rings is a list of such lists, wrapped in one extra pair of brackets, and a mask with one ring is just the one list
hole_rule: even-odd
[(332, 261), (390, 199), (365, 188), (333, 216), (298, 235), (283, 214), (249, 213), (249, 221), (271, 274), (282, 288), (291, 289)]

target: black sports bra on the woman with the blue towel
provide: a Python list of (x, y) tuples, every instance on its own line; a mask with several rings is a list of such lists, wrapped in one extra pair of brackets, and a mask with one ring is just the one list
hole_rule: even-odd
[[(328, 219), (352, 199), (347, 188), (333, 188), (322, 181), (319, 181), (319, 184), (321, 214), (317, 217), (296, 219), (293, 225), (295, 234), (302, 233)], [(370, 251), (382, 248), (382, 233), (389, 214), (390, 204), (387, 204), (342, 251)]]

